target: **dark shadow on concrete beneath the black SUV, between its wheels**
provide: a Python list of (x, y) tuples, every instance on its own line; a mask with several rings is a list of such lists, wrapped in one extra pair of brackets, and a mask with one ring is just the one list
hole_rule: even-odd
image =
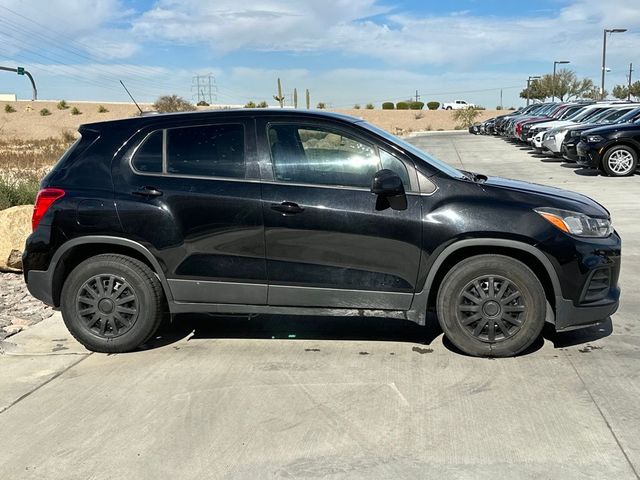
[(442, 334), (435, 317), (427, 326), (408, 320), (368, 316), (178, 315), (163, 324), (143, 349), (192, 339), (247, 338), (290, 340), (364, 340), (429, 345)]

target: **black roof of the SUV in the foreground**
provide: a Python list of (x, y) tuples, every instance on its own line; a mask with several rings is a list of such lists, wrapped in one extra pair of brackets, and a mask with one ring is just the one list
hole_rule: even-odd
[(221, 110), (200, 110), (197, 112), (178, 112), (178, 113), (155, 113), (146, 114), (130, 118), (122, 118), (118, 120), (107, 120), (104, 122), (85, 123), (80, 128), (96, 129), (108, 127), (124, 127), (124, 128), (142, 128), (155, 123), (163, 123), (168, 119), (175, 118), (180, 121), (194, 120), (218, 120), (221, 118), (234, 117), (301, 117), (314, 119), (332, 119), (340, 120), (347, 123), (361, 122), (362, 119), (351, 115), (341, 113), (327, 112), (322, 110), (294, 110), (280, 108), (236, 108)]

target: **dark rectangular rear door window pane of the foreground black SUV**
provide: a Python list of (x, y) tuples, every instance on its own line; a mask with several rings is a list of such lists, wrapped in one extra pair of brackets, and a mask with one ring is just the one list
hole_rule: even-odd
[(206, 125), (167, 130), (167, 173), (244, 178), (242, 125)]

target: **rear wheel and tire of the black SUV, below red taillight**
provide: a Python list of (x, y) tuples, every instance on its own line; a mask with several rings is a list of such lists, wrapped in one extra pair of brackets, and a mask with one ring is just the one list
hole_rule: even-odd
[(164, 318), (160, 281), (147, 265), (124, 255), (80, 263), (65, 280), (60, 304), (71, 334), (94, 352), (135, 350)]

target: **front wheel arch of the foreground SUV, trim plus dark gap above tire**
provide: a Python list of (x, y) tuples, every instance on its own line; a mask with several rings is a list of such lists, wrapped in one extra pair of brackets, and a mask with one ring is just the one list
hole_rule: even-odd
[(438, 254), (431, 264), (422, 291), (414, 298), (409, 317), (423, 324), (427, 310), (435, 308), (438, 290), (450, 268), (466, 258), (483, 254), (504, 255), (529, 267), (540, 280), (547, 301), (555, 312), (556, 297), (562, 297), (560, 280), (550, 260), (540, 249), (516, 240), (477, 238), (457, 241)]

